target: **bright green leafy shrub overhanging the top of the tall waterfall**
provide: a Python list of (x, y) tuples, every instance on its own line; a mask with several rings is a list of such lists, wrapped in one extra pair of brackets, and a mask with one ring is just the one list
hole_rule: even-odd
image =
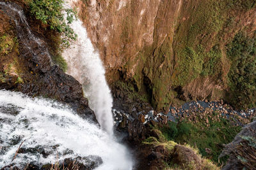
[[(76, 12), (72, 9), (64, 8), (63, 0), (31, 0), (29, 1), (30, 12), (41, 20), (42, 23), (49, 25), (52, 30), (61, 33), (62, 45), (67, 47), (70, 45), (70, 40), (76, 40), (77, 34), (70, 27), (76, 20)], [(67, 13), (65, 18), (64, 12)], [(65, 22), (67, 20), (67, 23)]]

